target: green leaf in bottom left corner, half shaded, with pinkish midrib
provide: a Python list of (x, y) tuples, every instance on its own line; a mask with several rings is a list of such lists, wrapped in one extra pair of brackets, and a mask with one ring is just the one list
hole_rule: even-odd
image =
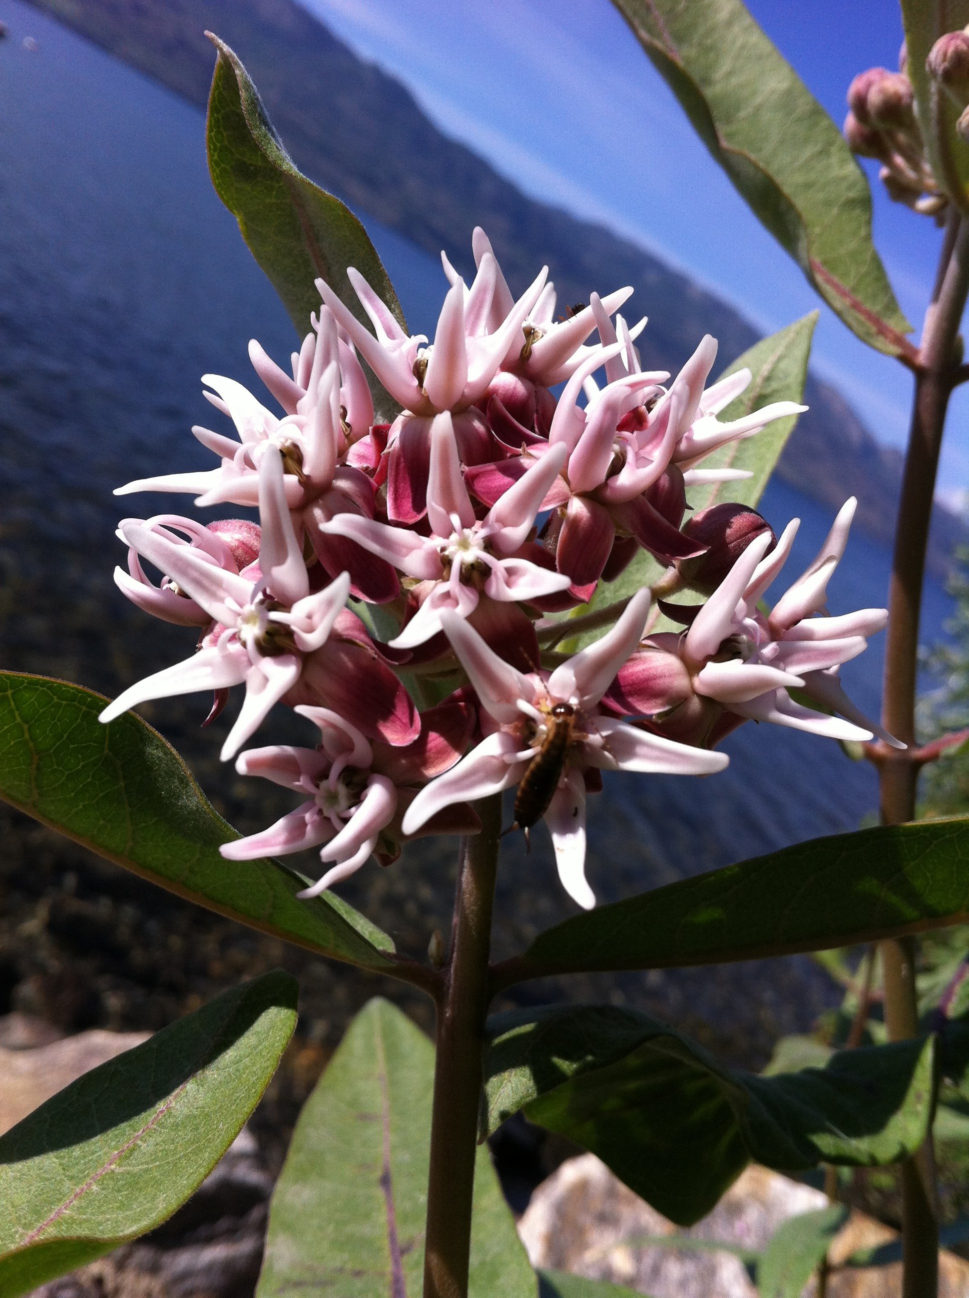
[(281, 970), (92, 1068), (0, 1137), (0, 1298), (165, 1221), (258, 1103), (296, 1025)]

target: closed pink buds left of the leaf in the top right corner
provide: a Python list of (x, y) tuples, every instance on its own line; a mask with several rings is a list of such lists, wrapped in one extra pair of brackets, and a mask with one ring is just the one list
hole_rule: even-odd
[[(882, 164), (878, 178), (891, 199), (940, 222), (948, 199), (939, 190), (925, 154), (903, 44), (899, 71), (869, 67), (852, 80), (844, 139), (854, 153)], [(957, 75), (956, 64), (953, 58), (953, 75)], [(931, 73), (931, 58), (929, 70)]]

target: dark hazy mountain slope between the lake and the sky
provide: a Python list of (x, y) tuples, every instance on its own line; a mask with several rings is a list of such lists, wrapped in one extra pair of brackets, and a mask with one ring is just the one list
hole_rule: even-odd
[[(560, 301), (633, 284), (650, 315), (647, 367), (676, 369), (704, 332), (729, 361), (756, 330), (732, 306), (629, 240), (527, 197), (468, 148), (442, 135), (396, 78), (361, 60), (296, 0), (30, 0), (109, 53), (204, 105), (214, 51), (231, 44), (249, 67), (279, 134), (314, 180), (454, 263), (470, 266), (471, 230), (483, 225), (514, 287), (547, 262)], [(878, 445), (830, 386), (808, 378), (809, 411), (778, 474), (830, 508), (859, 497), (859, 524), (890, 541), (900, 488), (898, 452)], [(965, 537), (937, 510), (930, 566), (947, 567)]]

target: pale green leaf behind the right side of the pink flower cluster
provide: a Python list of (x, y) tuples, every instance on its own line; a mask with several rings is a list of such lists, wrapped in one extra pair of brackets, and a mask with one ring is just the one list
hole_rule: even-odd
[[(816, 324), (817, 312), (809, 312), (802, 319), (777, 334), (772, 334), (771, 337), (761, 339), (743, 356), (738, 356), (720, 378), (747, 369), (751, 373), (751, 382), (747, 389), (732, 401), (719, 418), (723, 421), (741, 419), (752, 410), (771, 405), (773, 401), (799, 402), (804, 395), (811, 339)], [(755, 508), (796, 422), (796, 415), (777, 419), (755, 437), (733, 441), (715, 450), (703, 461), (704, 469), (745, 469), (752, 476), (741, 482), (706, 483), (690, 487), (690, 506), (697, 510), (708, 509), (711, 505), (729, 500), (738, 505)], [(628, 600), (643, 587), (654, 585), (664, 571), (663, 565), (658, 563), (650, 553), (640, 550), (615, 582), (601, 582), (589, 604), (580, 605), (571, 617), (584, 617), (586, 613), (598, 613), (610, 605), (617, 605), (620, 600)], [(669, 631), (673, 630), (673, 623), (660, 618), (651, 630)], [(599, 630), (585, 636), (573, 636), (562, 648), (566, 652), (575, 652), (601, 635)]]

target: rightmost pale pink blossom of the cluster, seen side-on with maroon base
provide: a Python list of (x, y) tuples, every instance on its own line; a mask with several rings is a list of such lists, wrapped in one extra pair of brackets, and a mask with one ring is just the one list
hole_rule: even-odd
[[(650, 636), (629, 658), (606, 706), (620, 715), (650, 718), (663, 733), (698, 744), (721, 737), (723, 711), (838, 740), (883, 735), (839, 693), (837, 672), (885, 627), (886, 610), (815, 617), (825, 607), (828, 582), (844, 553), (855, 504), (852, 498), (842, 508), (815, 562), (767, 617), (758, 604), (781, 571), (799, 520), (787, 526), (771, 553), (769, 532), (751, 541), (708, 601), (684, 610), (688, 631)], [(664, 607), (676, 615), (675, 605)], [(851, 719), (804, 707), (790, 689)]]

